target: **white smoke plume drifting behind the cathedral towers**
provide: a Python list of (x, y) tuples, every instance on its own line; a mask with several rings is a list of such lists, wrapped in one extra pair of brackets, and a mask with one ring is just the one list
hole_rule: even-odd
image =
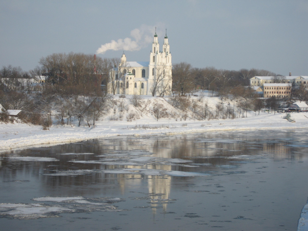
[[(108, 50), (113, 51), (139, 51), (141, 48), (147, 47), (152, 42), (155, 34), (155, 26), (141, 25), (131, 31), (131, 38), (111, 40), (110, 43), (105, 43), (99, 47), (96, 54), (104, 54)], [(164, 34), (164, 25), (159, 23), (156, 34), (161, 36)]]

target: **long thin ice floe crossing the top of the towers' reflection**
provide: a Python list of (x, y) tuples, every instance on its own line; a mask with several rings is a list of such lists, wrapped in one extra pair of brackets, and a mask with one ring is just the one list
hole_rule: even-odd
[(115, 168), (115, 169), (89, 169), (89, 170), (69, 170), (57, 171), (55, 173), (47, 173), (47, 176), (76, 176), (91, 173), (109, 173), (109, 174), (138, 174), (146, 176), (213, 176), (209, 173), (199, 172), (181, 172), (162, 169), (144, 169), (144, 168)]

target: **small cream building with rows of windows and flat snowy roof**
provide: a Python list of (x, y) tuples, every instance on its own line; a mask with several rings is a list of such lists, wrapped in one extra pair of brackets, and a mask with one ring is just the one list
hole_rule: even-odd
[(264, 97), (287, 98), (290, 95), (290, 83), (264, 83)]

